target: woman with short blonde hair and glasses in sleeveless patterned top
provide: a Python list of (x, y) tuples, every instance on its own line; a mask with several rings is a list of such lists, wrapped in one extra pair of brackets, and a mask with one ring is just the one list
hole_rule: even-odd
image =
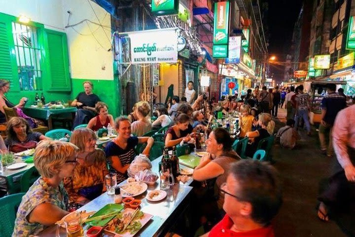
[(36, 236), (69, 213), (63, 179), (72, 175), (77, 151), (78, 148), (69, 142), (45, 140), (38, 143), (34, 162), (41, 176), (22, 197), (12, 236)]

